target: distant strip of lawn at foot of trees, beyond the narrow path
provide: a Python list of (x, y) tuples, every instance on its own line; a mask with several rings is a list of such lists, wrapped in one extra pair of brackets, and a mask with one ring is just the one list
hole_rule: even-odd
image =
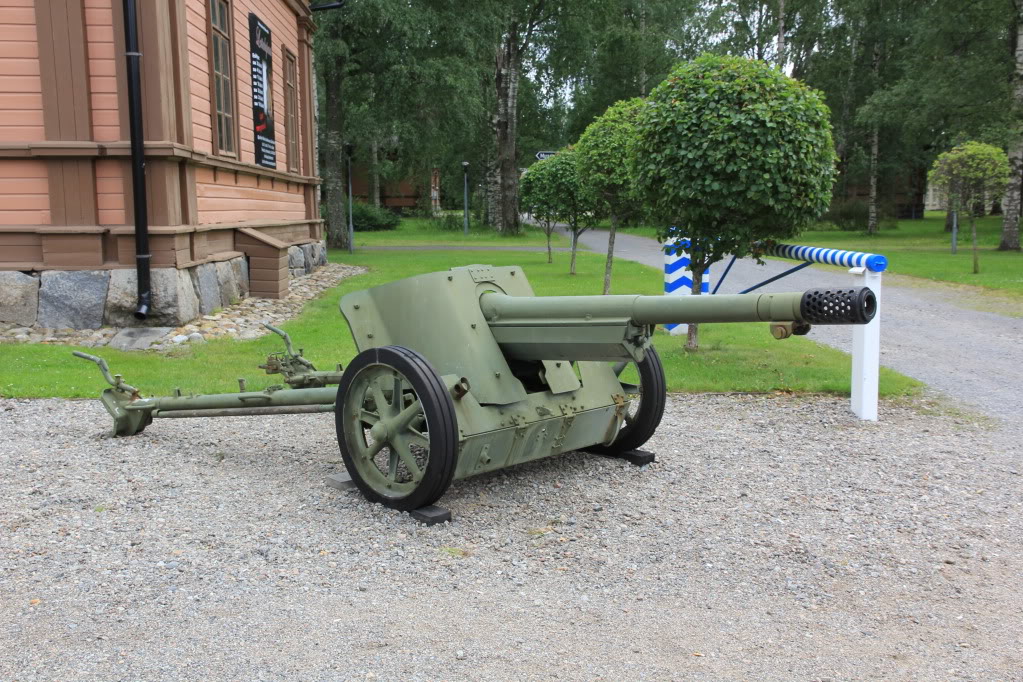
[[(459, 219), (460, 220), (460, 219)], [(444, 221), (431, 218), (404, 218), (397, 229), (381, 232), (356, 232), (355, 247), (359, 246), (544, 246), (546, 235), (536, 227), (523, 223), (522, 231), (515, 236), (495, 232), (485, 225), (470, 225), (469, 236), (462, 234), (461, 222), (457, 229), (446, 229)], [(560, 234), (550, 238), (552, 246), (567, 246), (568, 240)]]

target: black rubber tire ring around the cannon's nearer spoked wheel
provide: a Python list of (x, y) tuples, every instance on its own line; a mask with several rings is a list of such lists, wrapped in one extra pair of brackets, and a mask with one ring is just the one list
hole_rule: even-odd
[[(422, 411), (430, 426), (430, 459), (427, 461), (422, 481), (404, 497), (382, 495), (363, 481), (345, 441), (342, 419), (345, 397), (356, 375), (370, 365), (387, 365), (404, 374), (422, 403)], [(370, 502), (379, 502), (392, 509), (410, 511), (433, 504), (451, 485), (458, 459), (458, 424), (454, 403), (437, 371), (415, 351), (402, 346), (384, 346), (365, 350), (355, 356), (341, 377), (333, 416), (341, 458), (356, 487)]]

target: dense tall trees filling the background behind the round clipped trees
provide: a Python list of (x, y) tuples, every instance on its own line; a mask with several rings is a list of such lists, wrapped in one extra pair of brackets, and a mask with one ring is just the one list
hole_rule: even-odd
[(344, 186), (330, 181), (344, 168), (327, 153), (332, 137), (385, 180), (425, 183), (439, 169), (449, 209), (470, 162), (484, 216), (501, 113), (495, 55), (514, 39), (506, 118), (519, 169), (711, 52), (767, 61), (822, 93), (837, 201), (865, 202), (872, 229), (900, 212), (920, 218), (908, 200), (940, 152), (978, 140), (1023, 162), (1021, 9), (1019, 0), (478, 0), (466, 11), (454, 0), (349, 0), (314, 15), (325, 197)]

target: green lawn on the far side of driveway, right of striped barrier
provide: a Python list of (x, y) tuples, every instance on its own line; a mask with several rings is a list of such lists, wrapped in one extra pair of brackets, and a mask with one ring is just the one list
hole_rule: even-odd
[[(977, 221), (980, 274), (973, 274), (973, 254), (968, 223), (961, 225), (959, 253), (950, 253), (951, 235), (944, 231), (945, 214), (929, 211), (922, 220), (900, 220), (898, 229), (868, 236), (861, 232), (807, 230), (793, 243), (845, 248), (888, 257), (888, 272), (910, 277), (970, 284), (1023, 295), (1023, 254), (996, 251), (1002, 237), (1002, 217)], [(632, 227), (627, 234), (657, 238), (655, 227)]]

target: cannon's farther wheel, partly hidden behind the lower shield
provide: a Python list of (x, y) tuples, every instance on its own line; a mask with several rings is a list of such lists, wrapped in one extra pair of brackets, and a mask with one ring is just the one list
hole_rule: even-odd
[(633, 365), (639, 374), (639, 383), (622, 383), (622, 388), (632, 395), (625, 412), (625, 423), (611, 445), (595, 445), (587, 448), (602, 455), (619, 455), (641, 447), (654, 436), (661, 417), (664, 416), (666, 393), (664, 366), (657, 350), (651, 346), (647, 357), (640, 363), (621, 362), (615, 365), (615, 374), (621, 376), (625, 369)]

